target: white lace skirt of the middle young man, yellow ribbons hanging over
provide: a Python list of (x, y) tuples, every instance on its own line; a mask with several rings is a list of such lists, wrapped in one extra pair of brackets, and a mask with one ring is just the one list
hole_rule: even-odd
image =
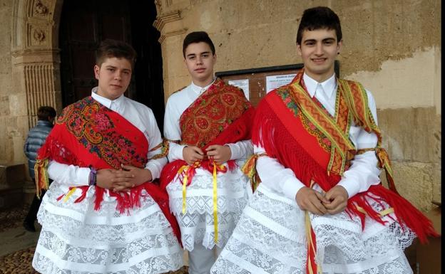
[[(242, 167), (244, 162), (237, 162)], [(213, 174), (198, 168), (192, 183), (187, 186), (185, 214), (183, 214), (183, 186), (175, 177), (167, 186), (170, 211), (178, 220), (183, 246), (193, 251), (195, 243), (205, 248), (223, 248), (232, 234), (242, 209), (252, 196), (250, 181), (239, 168), (218, 173), (218, 243), (215, 243), (213, 219)]]

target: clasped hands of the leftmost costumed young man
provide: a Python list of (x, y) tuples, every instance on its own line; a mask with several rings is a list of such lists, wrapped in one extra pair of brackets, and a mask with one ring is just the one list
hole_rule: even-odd
[(115, 192), (128, 191), (151, 180), (150, 170), (129, 165), (121, 165), (121, 169), (99, 169), (96, 176), (98, 186)]

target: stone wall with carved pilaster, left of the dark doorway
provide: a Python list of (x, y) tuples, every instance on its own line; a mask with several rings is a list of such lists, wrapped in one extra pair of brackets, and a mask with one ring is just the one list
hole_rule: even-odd
[(0, 0), (0, 163), (24, 163), (41, 105), (61, 110), (58, 16), (62, 0)]

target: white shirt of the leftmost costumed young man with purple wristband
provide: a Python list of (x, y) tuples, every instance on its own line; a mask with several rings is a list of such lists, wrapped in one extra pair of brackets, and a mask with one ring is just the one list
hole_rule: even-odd
[[(97, 87), (93, 88), (91, 96), (94, 100), (102, 105), (117, 112), (124, 117), (128, 122), (131, 122), (135, 127), (143, 132), (147, 138), (149, 149), (157, 146), (162, 142), (158, 124), (156, 123), (153, 111), (149, 107), (140, 102), (133, 101), (125, 96), (121, 96), (116, 100), (109, 100), (103, 98), (97, 93)], [(148, 152), (147, 157), (150, 159), (155, 154), (159, 154), (161, 149), (156, 149), (153, 152)], [(151, 159), (145, 164), (145, 169), (150, 170), (153, 179), (159, 178), (160, 171), (167, 163), (165, 157), (160, 159)], [(67, 184), (69, 186), (84, 186), (88, 185), (88, 177), (91, 169), (88, 167), (78, 167), (72, 164), (61, 164), (51, 160), (48, 164), (48, 176), (60, 184)]]

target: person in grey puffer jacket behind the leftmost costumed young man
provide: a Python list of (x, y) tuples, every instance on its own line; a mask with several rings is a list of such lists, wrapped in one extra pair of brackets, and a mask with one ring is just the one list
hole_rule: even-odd
[[(24, 152), (26, 158), (28, 158), (29, 176), (33, 179), (34, 184), (36, 183), (34, 164), (36, 164), (37, 151), (44, 144), (46, 137), (48, 137), (49, 132), (53, 129), (54, 119), (56, 119), (56, 110), (54, 110), (53, 107), (41, 106), (39, 107), (39, 110), (37, 110), (37, 119), (37, 124), (29, 130), (24, 145)], [(40, 203), (41, 199), (34, 196), (23, 223), (24, 228), (27, 231), (36, 232), (34, 222), (37, 218), (37, 211), (39, 211)]]

